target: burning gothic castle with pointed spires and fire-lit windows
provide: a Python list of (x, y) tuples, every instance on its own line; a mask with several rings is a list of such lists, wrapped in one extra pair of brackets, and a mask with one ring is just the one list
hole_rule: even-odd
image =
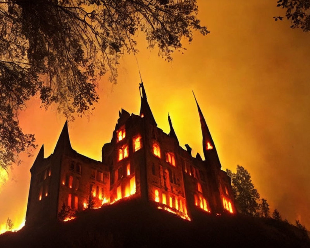
[(30, 169), (26, 225), (57, 219), (65, 204), (72, 210), (112, 204), (125, 197), (154, 204), (184, 219), (197, 214), (235, 213), (231, 180), (195, 98), (205, 160), (186, 150), (170, 125), (169, 134), (157, 127), (143, 83), (139, 86), (139, 115), (122, 109), (110, 143), (102, 148), (102, 162), (77, 153), (70, 144), (67, 122), (54, 153), (44, 158), (40, 149)]

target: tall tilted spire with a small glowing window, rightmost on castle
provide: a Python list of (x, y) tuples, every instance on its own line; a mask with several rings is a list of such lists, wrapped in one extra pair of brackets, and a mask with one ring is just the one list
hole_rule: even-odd
[(209, 161), (212, 160), (212, 163), (216, 163), (217, 167), (221, 168), (221, 163), (219, 162), (219, 157), (216, 152), (215, 144), (213, 142), (212, 136), (207, 126), (206, 120), (203, 117), (203, 114), (197, 102), (194, 91), (192, 92), (193, 92), (193, 95), (194, 95), (194, 98), (197, 104), (199, 118), (200, 118), (200, 125), (201, 125), (201, 132), (202, 132), (202, 146), (203, 146), (202, 148), (203, 148), (203, 153), (205, 155), (205, 159)]

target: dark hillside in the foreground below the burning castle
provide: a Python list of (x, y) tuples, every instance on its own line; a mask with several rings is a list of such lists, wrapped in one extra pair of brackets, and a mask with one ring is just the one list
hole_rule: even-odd
[(123, 199), (69, 222), (6, 232), (0, 247), (310, 247), (310, 239), (274, 219), (204, 213), (194, 222)]

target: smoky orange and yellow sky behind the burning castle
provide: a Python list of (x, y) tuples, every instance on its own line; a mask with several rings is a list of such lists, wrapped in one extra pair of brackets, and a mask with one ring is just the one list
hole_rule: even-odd
[[(271, 211), (277, 208), (291, 223), (300, 219), (310, 228), (310, 33), (290, 29), (277, 1), (198, 1), (201, 23), (211, 31), (195, 33), (182, 55), (165, 62), (157, 50), (139, 43), (139, 68), (148, 102), (159, 128), (169, 132), (168, 112), (182, 146), (202, 153), (201, 129), (191, 90), (206, 118), (223, 170), (237, 164), (251, 174)], [(69, 123), (73, 149), (101, 160), (104, 143), (111, 140), (118, 110), (139, 113), (139, 73), (135, 57), (125, 55), (118, 84), (99, 82), (100, 102), (89, 117)], [(36, 135), (49, 156), (65, 119), (56, 108), (39, 108), (29, 101), (20, 113), (25, 133)], [(25, 219), (34, 157), (23, 162), (0, 185), (0, 229), (10, 217), (19, 226)]]

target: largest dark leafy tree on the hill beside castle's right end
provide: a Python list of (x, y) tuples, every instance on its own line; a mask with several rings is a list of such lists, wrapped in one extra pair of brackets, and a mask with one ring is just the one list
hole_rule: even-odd
[(259, 210), (259, 193), (251, 180), (250, 173), (240, 165), (237, 165), (236, 173), (231, 170), (226, 170), (227, 174), (232, 179), (232, 192), (236, 199), (236, 205), (241, 213), (247, 215), (256, 215)]

